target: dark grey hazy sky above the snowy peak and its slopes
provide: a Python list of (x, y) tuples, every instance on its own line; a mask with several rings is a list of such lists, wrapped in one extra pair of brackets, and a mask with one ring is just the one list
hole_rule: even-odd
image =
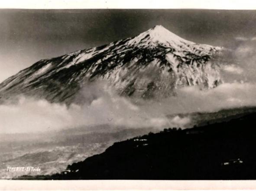
[(180, 9), (0, 10), (0, 81), (36, 61), (163, 25), (182, 38), (236, 47), (256, 37), (256, 11)]

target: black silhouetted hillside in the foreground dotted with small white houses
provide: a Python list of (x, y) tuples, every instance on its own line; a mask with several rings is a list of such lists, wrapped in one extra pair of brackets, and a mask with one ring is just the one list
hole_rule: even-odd
[(256, 113), (121, 141), (65, 173), (18, 179), (256, 179)]

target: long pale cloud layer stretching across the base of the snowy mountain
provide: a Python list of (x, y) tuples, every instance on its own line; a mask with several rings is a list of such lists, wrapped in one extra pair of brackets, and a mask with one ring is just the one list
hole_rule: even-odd
[(100, 90), (95, 91), (98, 93), (93, 95), (95, 98), (91, 103), (83, 106), (72, 104), (67, 107), (25, 97), (20, 98), (18, 104), (0, 105), (0, 132), (45, 132), (101, 124), (123, 128), (183, 127), (190, 122), (188, 117), (169, 119), (166, 116), (256, 106), (256, 86), (251, 83), (225, 83), (207, 91), (196, 86), (180, 88), (177, 96), (161, 101), (130, 100), (101, 86), (91, 88)]

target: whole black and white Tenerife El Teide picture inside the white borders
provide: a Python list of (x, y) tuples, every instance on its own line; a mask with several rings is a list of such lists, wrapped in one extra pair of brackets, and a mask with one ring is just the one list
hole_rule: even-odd
[(255, 180), (256, 10), (0, 9), (0, 179)]

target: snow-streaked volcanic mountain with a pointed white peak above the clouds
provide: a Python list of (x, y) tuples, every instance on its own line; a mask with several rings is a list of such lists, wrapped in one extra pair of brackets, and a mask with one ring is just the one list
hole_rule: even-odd
[(180, 86), (214, 88), (222, 83), (220, 67), (209, 60), (220, 47), (197, 44), (156, 25), (136, 37), (43, 59), (0, 84), (0, 99), (19, 94), (50, 102), (83, 100), (92, 81), (109, 82), (118, 94), (166, 97)]

